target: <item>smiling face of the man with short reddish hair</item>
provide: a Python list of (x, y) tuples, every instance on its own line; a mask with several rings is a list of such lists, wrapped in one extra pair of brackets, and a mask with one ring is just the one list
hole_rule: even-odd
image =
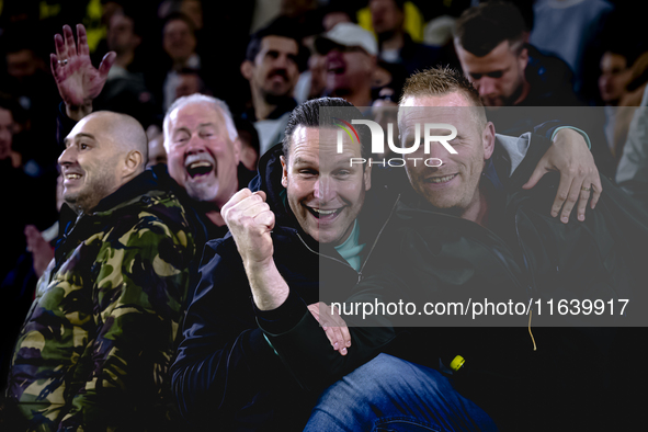
[[(476, 107), (462, 93), (441, 96), (409, 96), (400, 105), (399, 129), (405, 147), (411, 147), (416, 139), (416, 124), (446, 123), (456, 127), (457, 136), (450, 141), (457, 151), (447, 151), (437, 143), (431, 144), (430, 154), (423, 152), (423, 145), (410, 158), (439, 158), (441, 167), (427, 167), (422, 160), (408, 160), (407, 174), (414, 191), (439, 209), (457, 216), (470, 212), (479, 202), (479, 179), (484, 162), (492, 155), (494, 128), (492, 123), (484, 125), (477, 121)], [(430, 109), (427, 106), (434, 106)], [(447, 135), (445, 129), (431, 135)], [(421, 136), (423, 134), (421, 133)], [(434, 164), (434, 163), (430, 163)]]

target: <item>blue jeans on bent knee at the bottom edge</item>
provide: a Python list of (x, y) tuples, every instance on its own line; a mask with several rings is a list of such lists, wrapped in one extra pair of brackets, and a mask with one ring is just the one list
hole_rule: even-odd
[(441, 373), (379, 354), (322, 393), (304, 431), (497, 431), (497, 427)]

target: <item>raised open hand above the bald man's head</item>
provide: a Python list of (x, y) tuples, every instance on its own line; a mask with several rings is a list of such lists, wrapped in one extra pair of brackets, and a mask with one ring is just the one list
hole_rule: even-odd
[(49, 62), (68, 116), (79, 121), (92, 112), (92, 100), (101, 93), (117, 55), (107, 53), (96, 69), (90, 61), (88, 36), (82, 24), (77, 24), (77, 41), (75, 44), (72, 29), (64, 25), (62, 36), (54, 35), (56, 54), (49, 55)]

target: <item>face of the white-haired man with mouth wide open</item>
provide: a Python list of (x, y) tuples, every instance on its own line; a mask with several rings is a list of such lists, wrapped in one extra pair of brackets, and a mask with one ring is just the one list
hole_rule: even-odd
[(216, 106), (198, 102), (169, 116), (169, 174), (192, 198), (223, 206), (238, 190), (240, 141)]

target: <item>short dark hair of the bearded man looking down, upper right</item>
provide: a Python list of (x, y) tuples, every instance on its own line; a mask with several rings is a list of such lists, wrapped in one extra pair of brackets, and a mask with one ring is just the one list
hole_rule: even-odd
[(455, 24), (455, 39), (477, 57), (486, 56), (504, 41), (520, 54), (526, 32), (520, 9), (508, 1), (487, 1), (466, 9)]

